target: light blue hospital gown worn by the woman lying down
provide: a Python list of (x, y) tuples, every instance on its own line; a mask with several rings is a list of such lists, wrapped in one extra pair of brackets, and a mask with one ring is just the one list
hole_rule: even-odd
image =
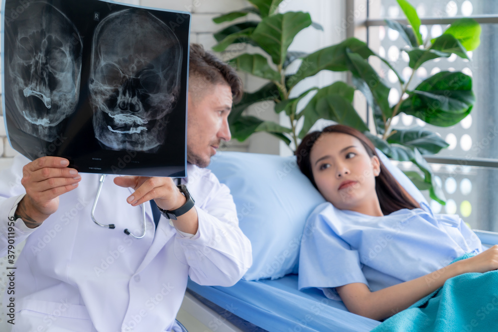
[(460, 217), (434, 215), (424, 203), (383, 217), (323, 203), (308, 218), (301, 240), (299, 289), (317, 287), (340, 300), (335, 287), (360, 282), (374, 292), (482, 251)]

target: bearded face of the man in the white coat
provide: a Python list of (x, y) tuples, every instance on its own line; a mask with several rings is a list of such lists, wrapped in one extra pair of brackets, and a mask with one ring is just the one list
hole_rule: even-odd
[(200, 96), (189, 90), (187, 161), (207, 167), (222, 140), (232, 138), (228, 115), (232, 110), (232, 89), (228, 84), (208, 85)]

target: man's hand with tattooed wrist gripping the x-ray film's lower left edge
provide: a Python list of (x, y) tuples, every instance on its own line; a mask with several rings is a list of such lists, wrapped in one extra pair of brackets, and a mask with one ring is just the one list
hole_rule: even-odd
[(29, 228), (38, 227), (57, 211), (59, 196), (78, 187), (78, 171), (68, 168), (69, 161), (59, 157), (41, 157), (22, 168), (21, 184), (26, 195), (15, 215)]

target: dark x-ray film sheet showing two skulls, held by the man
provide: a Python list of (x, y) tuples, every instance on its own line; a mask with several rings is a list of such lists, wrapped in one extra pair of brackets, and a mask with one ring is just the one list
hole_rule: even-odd
[(3, 0), (10, 145), (80, 172), (185, 176), (190, 13), (100, 0)]

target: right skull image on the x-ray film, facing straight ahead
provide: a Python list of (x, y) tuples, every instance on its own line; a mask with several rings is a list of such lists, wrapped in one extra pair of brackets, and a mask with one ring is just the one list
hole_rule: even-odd
[(105, 148), (155, 152), (180, 93), (182, 47), (175, 33), (137, 8), (97, 26), (89, 80), (95, 137)]

